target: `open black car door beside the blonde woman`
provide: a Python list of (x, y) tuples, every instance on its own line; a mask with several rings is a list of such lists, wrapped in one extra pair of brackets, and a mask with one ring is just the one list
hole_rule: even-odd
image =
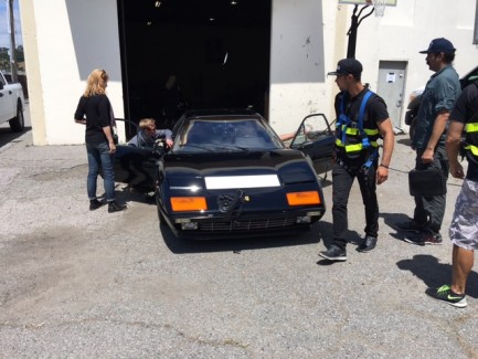
[[(116, 118), (116, 122), (125, 122), (135, 126), (136, 134), (139, 126), (128, 119)], [(138, 144), (118, 144), (114, 160), (115, 181), (128, 183), (131, 187), (155, 189), (158, 177), (158, 162), (161, 160), (163, 149), (152, 147), (140, 147)]]

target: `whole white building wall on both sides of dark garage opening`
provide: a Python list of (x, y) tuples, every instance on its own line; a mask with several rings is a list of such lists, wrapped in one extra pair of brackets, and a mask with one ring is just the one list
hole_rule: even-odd
[[(108, 97), (116, 117), (124, 117), (116, 4), (20, 0), (35, 145), (84, 141), (84, 128), (74, 124), (73, 114), (96, 67), (109, 73)], [(478, 59), (471, 44), (476, 6), (476, 0), (397, 0), (384, 18), (367, 18), (355, 52), (364, 66), (363, 82), (376, 89), (380, 61), (407, 61), (405, 107), (406, 94), (432, 75), (418, 51), (439, 36), (458, 49), (455, 65), (465, 74)], [(338, 88), (327, 72), (347, 55), (352, 10), (338, 0), (273, 0), (269, 120), (277, 133), (295, 130), (311, 113), (333, 119)]]

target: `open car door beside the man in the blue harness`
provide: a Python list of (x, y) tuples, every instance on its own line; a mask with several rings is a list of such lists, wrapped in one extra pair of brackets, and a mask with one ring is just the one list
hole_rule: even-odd
[(302, 119), (289, 147), (310, 157), (317, 175), (331, 169), (336, 137), (323, 114), (308, 115)]

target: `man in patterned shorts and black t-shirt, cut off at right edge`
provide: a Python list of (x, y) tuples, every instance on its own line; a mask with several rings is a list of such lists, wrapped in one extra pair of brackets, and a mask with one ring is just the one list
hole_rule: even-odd
[(474, 265), (474, 251), (478, 250), (478, 82), (468, 85), (458, 97), (449, 116), (446, 137), (449, 171), (455, 178), (464, 178), (458, 162), (461, 133), (466, 134), (468, 170), (455, 204), (449, 237), (453, 243), (452, 284), (428, 288), (426, 294), (453, 306), (467, 306), (465, 287)]

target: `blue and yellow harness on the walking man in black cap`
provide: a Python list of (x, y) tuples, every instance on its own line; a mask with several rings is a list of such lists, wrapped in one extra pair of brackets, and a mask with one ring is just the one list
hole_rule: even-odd
[(379, 157), (379, 144), (376, 142), (380, 136), (379, 129), (363, 128), (367, 103), (372, 95), (374, 95), (374, 93), (370, 89), (367, 89), (362, 97), (359, 117), (355, 123), (346, 115), (346, 101), (348, 99), (348, 93), (343, 92), (340, 101), (340, 115), (337, 119), (337, 149), (344, 150), (348, 157), (354, 157), (353, 155), (359, 155), (365, 150), (369, 152), (368, 159), (362, 165), (362, 170), (368, 170), (370, 166), (372, 166), (375, 158)]

